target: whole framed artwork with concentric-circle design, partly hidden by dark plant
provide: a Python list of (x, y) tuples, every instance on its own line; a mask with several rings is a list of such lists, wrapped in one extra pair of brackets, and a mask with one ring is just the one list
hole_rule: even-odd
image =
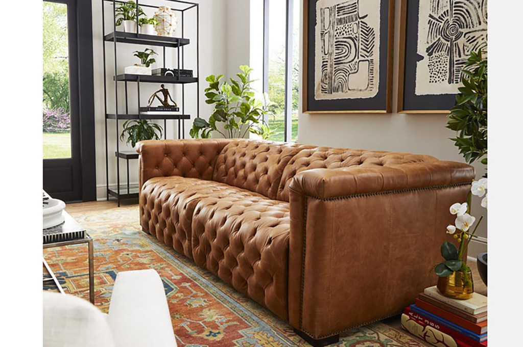
[(398, 113), (448, 113), (471, 51), (486, 48), (487, 0), (402, 0)]

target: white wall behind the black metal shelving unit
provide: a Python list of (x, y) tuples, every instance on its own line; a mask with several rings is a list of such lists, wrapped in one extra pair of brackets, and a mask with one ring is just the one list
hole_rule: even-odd
[[(227, 42), (228, 42), (228, 26), (226, 25), (227, 13), (228, 13), (228, 2), (229, 0), (194, 0), (200, 4), (200, 116), (207, 118), (212, 111), (212, 106), (207, 105), (204, 100), (203, 91), (207, 87), (205, 77), (211, 74), (219, 73), (219, 71), (226, 71), (227, 69)], [(93, 1), (93, 54), (94, 54), (94, 85), (95, 85), (95, 131), (96, 131), (96, 183), (97, 183), (97, 197), (98, 199), (105, 199), (106, 197), (106, 155), (105, 155), (105, 116), (104, 116), (104, 61), (103, 61), (103, 34), (102, 34), (102, 22), (101, 22), (101, 1)], [(112, 6), (106, 3), (106, 33), (112, 31), (111, 14)], [(151, 1), (150, 4), (161, 4), (161, 2)], [(144, 8), (147, 15), (152, 16), (153, 11), (151, 9)], [(248, 12), (247, 12), (248, 13)], [(179, 13), (177, 13), (178, 15)], [(196, 44), (196, 16), (195, 9), (186, 11), (184, 15), (186, 20), (186, 27), (184, 36), (189, 38), (192, 43)], [(180, 16), (178, 15), (180, 20)], [(181, 23), (179, 23), (181, 28)], [(119, 30), (122, 30), (119, 28)], [(178, 29), (180, 30), (180, 29)], [(181, 35), (181, 33), (180, 33)], [(196, 45), (190, 44), (185, 46), (184, 50), (187, 57), (196, 56)], [(112, 81), (113, 66), (114, 66), (114, 53), (113, 44), (105, 43), (106, 45), (106, 59), (107, 59), (107, 109), (108, 113), (114, 113), (115, 111), (115, 86)], [(133, 51), (143, 50), (145, 46), (142, 45), (128, 45), (119, 44), (118, 46), (118, 73), (123, 73), (125, 66), (133, 65), (139, 62), (138, 58), (133, 57)], [(153, 48), (159, 55), (156, 56), (156, 61), (153, 65), (155, 67), (162, 67), (162, 47), (150, 47)], [(192, 50), (192, 52), (191, 52)], [(166, 62), (175, 62), (176, 59), (169, 54), (175, 54), (174, 49), (167, 49)], [(171, 63), (171, 65), (174, 63)], [(169, 66), (167, 64), (167, 66)], [(185, 68), (194, 69), (196, 73), (196, 61), (186, 59)], [(177, 103), (181, 103), (181, 87), (180, 86), (167, 86), (169, 88), (173, 99)], [(137, 91), (136, 83), (128, 82), (128, 100), (129, 100), (129, 113), (136, 113), (138, 111), (137, 103)], [(141, 105), (145, 105), (151, 94), (160, 89), (160, 85), (154, 83), (143, 83), (140, 90), (140, 101)], [(124, 83), (119, 82), (118, 86), (119, 93), (119, 113), (124, 113)], [(185, 122), (185, 137), (189, 137), (189, 129), (192, 124), (192, 119), (196, 115), (196, 85), (186, 87), (186, 109), (185, 113), (191, 114), (191, 120)], [(121, 124), (119, 134), (121, 133)], [(161, 122), (163, 126), (163, 122)], [(167, 138), (177, 138), (178, 128), (177, 121), (167, 121)], [(116, 151), (116, 129), (115, 121), (108, 121), (108, 138), (109, 138), (109, 168), (110, 176), (109, 182), (111, 184), (116, 183), (116, 159), (113, 157), (113, 153)], [(126, 150), (123, 142), (120, 142), (120, 150)], [(127, 150), (132, 150), (127, 148)], [(111, 154), (112, 153), (112, 154)], [(126, 182), (126, 162), (120, 160), (120, 177), (122, 182)], [(130, 182), (138, 182), (138, 161), (130, 161)]]

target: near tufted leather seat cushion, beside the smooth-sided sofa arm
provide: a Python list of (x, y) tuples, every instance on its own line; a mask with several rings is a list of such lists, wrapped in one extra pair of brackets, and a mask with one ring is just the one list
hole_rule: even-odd
[(287, 319), (289, 203), (244, 192), (198, 202), (192, 255), (196, 264)]

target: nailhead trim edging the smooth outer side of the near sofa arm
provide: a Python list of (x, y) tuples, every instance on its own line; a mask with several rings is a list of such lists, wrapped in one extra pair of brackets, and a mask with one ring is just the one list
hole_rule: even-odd
[[(385, 192), (374, 192), (374, 193), (360, 193), (360, 194), (352, 194), (352, 195), (343, 195), (343, 196), (335, 196), (335, 197), (329, 197), (329, 198), (322, 198), (322, 197), (315, 196), (315, 195), (312, 195), (312, 194), (304, 194), (304, 195), (306, 197), (313, 198), (313, 199), (320, 200), (320, 201), (336, 201), (336, 200), (346, 200), (346, 199), (351, 199), (351, 198), (360, 198), (360, 197), (374, 196), (374, 195), (401, 194), (401, 193), (406, 193), (406, 192), (417, 192), (417, 191), (420, 191), (420, 190), (435, 190), (435, 189), (442, 189), (442, 188), (460, 187), (460, 186), (466, 186), (466, 185), (471, 185), (471, 184), (472, 184), (472, 182), (470, 182), (470, 183), (469, 182), (454, 183), (454, 184), (431, 186), (431, 187), (419, 187), (419, 188), (406, 188), (406, 189), (386, 190)], [(306, 240), (306, 230), (307, 230), (307, 199), (305, 199), (304, 212), (303, 212), (303, 255), (302, 255), (303, 260), (302, 260), (302, 265), (301, 265), (301, 293), (300, 293), (300, 330), (301, 331), (303, 331), (306, 334), (308, 334), (311, 338), (318, 340), (318, 339), (323, 339), (323, 338), (327, 338), (327, 337), (331, 337), (331, 336), (337, 335), (337, 334), (342, 333), (344, 331), (348, 331), (348, 330), (351, 330), (351, 329), (362, 327), (364, 325), (371, 324), (373, 322), (377, 322), (379, 320), (382, 320), (382, 319), (385, 319), (385, 318), (389, 318), (389, 317), (392, 317), (392, 316), (395, 316), (395, 315), (398, 315), (398, 314), (401, 313), (401, 312), (394, 313), (392, 315), (388, 315), (388, 316), (384, 316), (384, 317), (381, 317), (381, 318), (378, 318), (378, 319), (370, 320), (370, 321), (362, 323), (362, 324), (358, 324), (358, 325), (355, 325), (355, 326), (351, 326), (349, 328), (345, 328), (345, 329), (338, 330), (338, 331), (335, 331), (335, 332), (331, 332), (331, 333), (328, 333), (328, 334), (323, 334), (323, 335), (320, 335), (320, 336), (315, 336), (310, 331), (308, 331), (306, 329), (303, 329), (303, 291), (304, 291), (304, 288), (305, 288), (305, 240)]]

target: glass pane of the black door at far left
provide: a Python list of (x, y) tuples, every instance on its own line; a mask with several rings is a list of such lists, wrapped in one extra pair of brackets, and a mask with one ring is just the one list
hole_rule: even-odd
[(71, 158), (67, 5), (43, 2), (43, 159)]

